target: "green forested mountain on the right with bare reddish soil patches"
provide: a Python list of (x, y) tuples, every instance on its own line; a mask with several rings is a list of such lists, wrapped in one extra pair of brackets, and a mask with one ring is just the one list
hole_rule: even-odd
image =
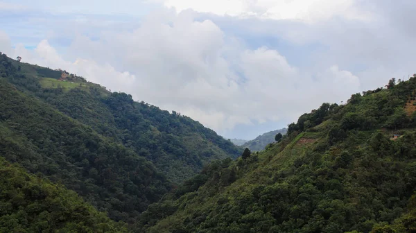
[(277, 144), (207, 166), (144, 232), (416, 232), (416, 75), (324, 103)]

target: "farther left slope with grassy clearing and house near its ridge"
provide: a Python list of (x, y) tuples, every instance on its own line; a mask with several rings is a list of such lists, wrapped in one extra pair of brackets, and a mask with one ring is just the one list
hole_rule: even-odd
[(239, 155), (234, 144), (187, 116), (137, 103), (128, 94), (109, 92), (62, 71), (8, 58), (3, 63), (3, 71), (10, 73), (8, 82), (19, 91), (146, 157), (173, 182), (191, 178), (214, 159)]

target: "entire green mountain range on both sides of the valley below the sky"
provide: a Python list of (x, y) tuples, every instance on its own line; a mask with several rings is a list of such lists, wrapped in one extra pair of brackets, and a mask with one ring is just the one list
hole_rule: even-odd
[(177, 112), (0, 55), (0, 232), (416, 232), (416, 75), (386, 87), (243, 151)]

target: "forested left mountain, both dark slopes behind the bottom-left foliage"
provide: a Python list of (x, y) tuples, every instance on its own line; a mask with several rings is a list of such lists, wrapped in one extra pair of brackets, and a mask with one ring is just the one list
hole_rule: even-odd
[(0, 156), (135, 223), (174, 183), (241, 152), (187, 116), (0, 55)]

